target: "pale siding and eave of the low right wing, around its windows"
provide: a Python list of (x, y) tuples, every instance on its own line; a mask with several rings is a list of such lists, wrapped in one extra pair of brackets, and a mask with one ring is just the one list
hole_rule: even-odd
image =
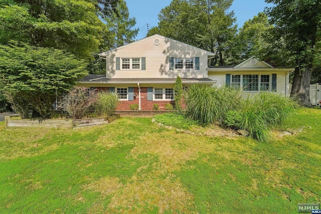
[[(276, 74), (276, 93), (284, 94), (284, 96), (288, 96), (288, 75), (284, 72), (255, 72), (255, 71), (237, 71), (237, 72), (210, 72), (208, 74), (208, 78), (217, 81), (217, 86), (224, 86), (226, 81), (226, 74)], [(270, 77), (271, 78), (271, 77)], [(270, 80), (271, 82), (271, 80)], [(247, 95), (254, 95), (257, 92), (243, 92)]]

